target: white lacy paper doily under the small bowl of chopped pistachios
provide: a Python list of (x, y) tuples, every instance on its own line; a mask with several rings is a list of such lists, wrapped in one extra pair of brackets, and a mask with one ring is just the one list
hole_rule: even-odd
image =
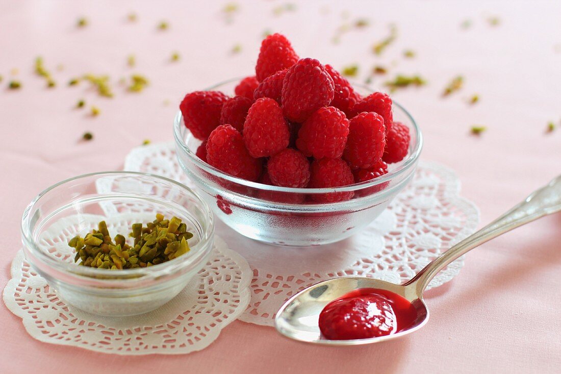
[[(112, 218), (113, 222), (122, 221)], [(104, 217), (82, 219), (93, 226)], [(108, 220), (110, 231), (114, 226)], [(61, 236), (47, 235), (42, 240), (56, 248), (53, 256), (72, 261), (66, 243), (76, 230), (57, 230), (61, 232)], [(177, 297), (152, 312), (121, 318), (96, 316), (66, 304), (43, 277), (31, 270), (22, 250), (13, 259), (11, 276), (4, 288), (4, 303), (22, 318), (35, 339), (104, 353), (141, 355), (181, 354), (206, 348), (247, 308), (252, 273), (246, 260), (215, 236), (206, 266)]]

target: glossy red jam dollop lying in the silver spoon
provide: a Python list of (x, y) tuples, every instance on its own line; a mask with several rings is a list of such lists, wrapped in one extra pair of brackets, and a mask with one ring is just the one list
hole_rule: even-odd
[(415, 307), (388, 290), (362, 288), (325, 305), (319, 329), (325, 339), (350, 340), (396, 334), (417, 320)]

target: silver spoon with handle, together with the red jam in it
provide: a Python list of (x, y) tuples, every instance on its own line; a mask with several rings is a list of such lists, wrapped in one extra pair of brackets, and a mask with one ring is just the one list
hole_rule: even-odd
[(486, 241), (559, 211), (561, 175), (440, 254), (404, 284), (351, 276), (319, 282), (280, 307), (275, 328), (290, 339), (325, 345), (378, 343), (419, 330), (429, 320), (423, 291), (439, 271)]

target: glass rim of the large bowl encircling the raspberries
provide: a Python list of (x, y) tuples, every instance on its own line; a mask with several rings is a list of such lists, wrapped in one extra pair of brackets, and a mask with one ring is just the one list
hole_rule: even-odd
[[(221, 83), (217, 83), (214, 84), (212, 86), (210, 86), (209, 88), (206, 88), (205, 90), (213, 90), (216, 89), (222, 85), (226, 85), (229, 83), (233, 83), (233, 82), (237, 82), (242, 78), (233, 78), (233, 79), (228, 79), (225, 81), (222, 81)], [(355, 84), (353, 83), (353, 86), (357, 86), (360, 88), (364, 88), (369, 90), (370, 92), (376, 92), (374, 91), (370, 86), (367, 85), (363, 85), (363, 84)], [(403, 113), (409, 118), (409, 120), (412, 123), (412, 128), (415, 131), (416, 134), (416, 142), (413, 145), (413, 150), (411, 152), (411, 154), (404, 160), (402, 161), (401, 165), (399, 165), (395, 170), (389, 171), (387, 174), (384, 174), (383, 176), (379, 176), (373, 180), (370, 181), (365, 181), (365, 182), (361, 182), (361, 183), (354, 183), (354, 184), (350, 184), (347, 186), (341, 186), (341, 187), (332, 187), (332, 188), (292, 188), (292, 187), (279, 187), (279, 186), (273, 186), (273, 185), (267, 185), (267, 184), (263, 184), (263, 183), (259, 183), (259, 182), (252, 182), (249, 180), (245, 180), (245, 179), (241, 179), (238, 177), (234, 177), (232, 175), (226, 174), (220, 170), (218, 170), (217, 168), (210, 166), (208, 163), (202, 161), (199, 157), (196, 156), (195, 152), (193, 152), (185, 143), (185, 141), (183, 140), (182, 136), (181, 136), (181, 130), (183, 127), (185, 127), (183, 125), (183, 116), (181, 114), (181, 111), (178, 111), (176, 113), (176, 116), (174, 117), (174, 121), (173, 121), (173, 136), (175, 139), (175, 142), (177, 145), (179, 145), (179, 147), (183, 150), (183, 152), (185, 152), (187, 154), (187, 156), (190, 158), (191, 162), (195, 163), (195, 165), (201, 169), (203, 169), (204, 171), (208, 172), (209, 174), (213, 175), (213, 176), (217, 176), (221, 179), (225, 179), (228, 181), (231, 181), (233, 183), (237, 183), (246, 187), (251, 187), (251, 188), (255, 188), (258, 190), (266, 190), (266, 191), (278, 191), (278, 192), (284, 192), (284, 193), (298, 193), (298, 194), (325, 194), (325, 193), (337, 193), (337, 192), (345, 192), (345, 191), (359, 191), (362, 189), (367, 189), (367, 188), (371, 188), (373, 186), (377, 186), (377, 185), (381, 185), (387, 181), (392, 180), (394, 177), (399, 176), (401, 174), (404, 174), (407, 170), (409, 170), (411, 167), (414, 167), (416, 165), (416, 161), (419, 158), (419, 155), (421, 153), (421, 149), (422, 149), (422, 144), (423, 144), (423, 139), (422, 139), (422, 134), (421, 134), (421, 130), (419, 129), (419, 126), (417, 125), (417, 122), (415, 121), (415, 118), (413, 118), (413, 116), (411, 116), (411, 113), (409, 113), (404, 107), (401, 106), (401, 104), (397, 103), (396, 101), (393, 101), (393, 104), (396, 105), (401, 111), (403, 111)]]

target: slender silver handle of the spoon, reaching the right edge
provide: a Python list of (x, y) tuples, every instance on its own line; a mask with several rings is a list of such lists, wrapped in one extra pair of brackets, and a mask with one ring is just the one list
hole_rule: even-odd
[(561, 175), (531, 193), (525, 200), (489, 225), (440, 254), (404, 285), (415, 285), (417, 294), (421, 295), (440, 270), (466, 252), (518, 226), (559, 211), (561, 211)]

